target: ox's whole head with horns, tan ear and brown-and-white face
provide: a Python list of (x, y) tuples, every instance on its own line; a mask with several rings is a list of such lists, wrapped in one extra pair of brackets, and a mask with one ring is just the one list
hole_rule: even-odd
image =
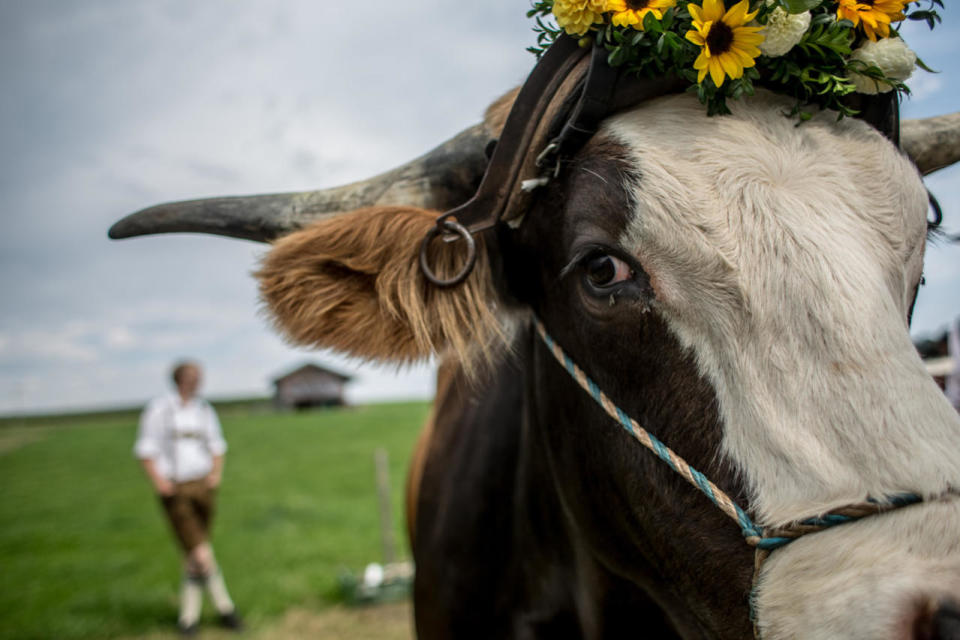
[[(473, 194), (511, 99), (369, 181), (161, 205), (111, 236), (271, 241), (263, 300), (296, 343), (379, 361), (448, 355), (478, 385), (483, 363), (513, 357), (498, 345), (512, 347), (574, 535), (683, 637), (750, 634), (751, 551), (525, 339), (531, 312), (764, 525), (960, 487), (960, 418), (908, 334), (921, 174), (960, 159), (960, 114), (905, 123), (905, 155), (859, 120), (798, 127), (772, 94), (715, 118), (690, 95), (648, 101), (607, 118), (522, 218), (478, 238), (467, 281), (438, 289), (420, 241)], [(461, 260), (459, 243), (430, 245), (438, 271)], [(960, 504), (931, 502), (776, 552), (756, 593), (763, 637), (960, 637), (958, 534)]]

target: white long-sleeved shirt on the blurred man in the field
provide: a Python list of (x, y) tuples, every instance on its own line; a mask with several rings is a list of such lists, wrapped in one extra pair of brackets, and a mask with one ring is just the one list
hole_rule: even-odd
[(184, 404), (171, 393), (151, 400), (140, 415), (133, 453), (153, 460), (167, 480), (198, 480), (213, 469), (213, 457), (226, 451), (220, 420), (206, 400), (193, 398)]

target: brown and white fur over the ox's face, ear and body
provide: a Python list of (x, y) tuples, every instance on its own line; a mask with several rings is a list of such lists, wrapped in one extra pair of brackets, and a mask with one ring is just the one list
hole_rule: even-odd
[[(455, 353), (415, 478), (421, 637), (621, 637), (634, 614), (646, 637), (750, 633), (739, 531), (558, 370), (531, 309), (762, 525), (960, 488), (960, 418), (908, 334), (920, 176), (869, 125), (797, 126), (788, 106), (761, 94), (708, 118), (678, 95), (608, 119), (459, 289), (417, 270), (436, 212), (357, 211), (268, 256), (264, 299), (293, 339)], [(585, 284), (585, 247), (631, 266), (609, 299)], [(945, 500), (775, 552), (756, 613), (765, 640), (945, 640), (958, 603)]]

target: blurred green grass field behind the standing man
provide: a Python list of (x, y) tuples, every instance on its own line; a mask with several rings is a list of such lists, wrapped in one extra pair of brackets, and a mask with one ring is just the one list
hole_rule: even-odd
[[(390, 454), (396, 538), (405, 540), (405, 470), (427, 411), (221, 413), (230, 451), (214, 546), (254, 632), (289, 610), (329, 606), (340, 570), (381, 560), (376, 447)], [(178, 552), (132, 457), (135, 432), (129, 412), (0, 427), (0, 637), (170, 630)]]

